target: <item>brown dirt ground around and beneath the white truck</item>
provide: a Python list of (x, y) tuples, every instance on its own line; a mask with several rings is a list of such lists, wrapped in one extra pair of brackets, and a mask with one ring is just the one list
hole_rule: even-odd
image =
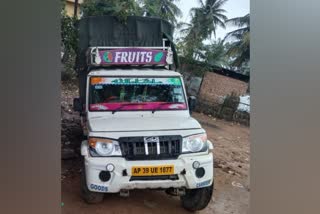
[[(71, 109), (76, 87), (62, 87), (61, 198), (64, 214), (188, 213), (179, 197), (163, 191), (134, 190), (129, 198), (107, 194), (103, 203), (88, 205), (80, 197), (80, 119)], [(214, 143), (215, 191), (208, 207), (198, 213), (245, 214), (249, 208), (249, 127), (194, 113)]]

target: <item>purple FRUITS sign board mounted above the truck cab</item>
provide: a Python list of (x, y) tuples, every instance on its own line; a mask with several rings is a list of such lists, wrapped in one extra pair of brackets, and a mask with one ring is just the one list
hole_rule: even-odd
[(89, 47), (91, 66), (167, 66), (173, 64), (171, 46), (160, 47)]

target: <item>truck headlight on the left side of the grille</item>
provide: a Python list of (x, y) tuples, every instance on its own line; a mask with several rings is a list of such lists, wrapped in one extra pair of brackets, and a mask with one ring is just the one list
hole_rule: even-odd
[(92, 156), (119, 156), (121, 149), (115, 140), (104, 138), (89, 138), (90, 154)]

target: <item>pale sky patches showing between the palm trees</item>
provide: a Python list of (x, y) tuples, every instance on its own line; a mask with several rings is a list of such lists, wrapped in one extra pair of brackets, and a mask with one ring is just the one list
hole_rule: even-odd
[[(205, 0), (203, 1), (205, 2)], [(180, 0), (176, 2), (176, 5), (183, 12), (183, 17), (178, 18), (178, 21), (189, 22), (191, 18), (189, 14), (190, 9), (192, 7), (199, 7), (200, 4), (198, 0)], [(228, 0), (222, 8), (227, 11), (225, 15), (228, 19), (244, 16), (250, 12), (250, 0)], [(226, 33), (235, 29), (235, 27), (230, 26), (227, 26), (226, 29), (218, 27), (216, 31), (216, 38), (223, 39)], [(212, 36), (212, 39), (214, 39), (214, 36)]]

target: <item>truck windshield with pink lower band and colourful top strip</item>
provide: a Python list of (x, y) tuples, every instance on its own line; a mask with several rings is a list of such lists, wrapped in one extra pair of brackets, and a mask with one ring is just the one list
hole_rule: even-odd
[(180, 77), (91, 77), (90, 111), (186, 110)]

